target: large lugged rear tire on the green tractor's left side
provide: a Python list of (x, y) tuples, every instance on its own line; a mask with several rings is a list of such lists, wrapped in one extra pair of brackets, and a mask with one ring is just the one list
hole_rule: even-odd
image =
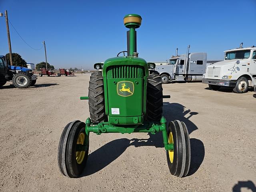
[(104, 85), (102, 72), (92, 73), (89, 82), (89, 112), (93, 123), (107, 120), (105, 113)]

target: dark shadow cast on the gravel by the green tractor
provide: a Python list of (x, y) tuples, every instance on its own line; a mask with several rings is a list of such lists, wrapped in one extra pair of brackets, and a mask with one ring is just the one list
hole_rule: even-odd
[[(188, 117), (184, 117), (186, 114), (189, 114)], [(198, 129), (197, 126), (189, 120), (191, 116), (197, 114), (197, 112), (185, 110), (185, 106), (182, 106), (181, 104), (164, 102), (163, 116), (166, 117), (167, 123), (173, 120), (183, 121), (188, 128), (189, 134)], [(129, 146), (155, 146), (156, 148), (164, 148), (162, 132), (148, 135), (150, 137), (148, 139), (133, 138), (129, 140), (122, 138), (113, 140), (98, 148), (96, 151), (89, 154), (86, 168), (80, 177), (88, 176), (102, 170), (108, 166), (108, 164), (116, 160)], [(196, 138), (190, 138), (190, 144), (191, 163), (188, 176), (194, 174), (198, 170), (204, 160), (205, 153), (202, 141)]]

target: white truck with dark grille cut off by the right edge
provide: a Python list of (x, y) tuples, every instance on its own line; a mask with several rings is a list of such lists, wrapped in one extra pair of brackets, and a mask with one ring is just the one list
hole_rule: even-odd
[(242, 45), (224, 51), (224, 61), (207, 66), (202, 83), (213, 90), (229, 86), (235, 93), (245, 93), (248, 87), (256, 86), (256, 47), (242, 48)]

